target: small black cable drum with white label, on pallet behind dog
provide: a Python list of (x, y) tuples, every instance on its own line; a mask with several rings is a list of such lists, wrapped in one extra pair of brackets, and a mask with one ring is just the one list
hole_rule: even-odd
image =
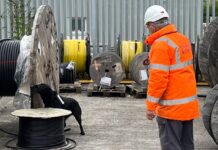
[(62, 63), (59, 66), (60, 83), (74, 83), (76, 80), (76, 65), (74, 62)]

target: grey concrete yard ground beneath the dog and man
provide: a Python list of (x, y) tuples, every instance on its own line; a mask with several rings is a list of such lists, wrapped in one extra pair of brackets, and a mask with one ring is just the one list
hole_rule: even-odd
[[(86, 93), (61, 93), (62, 96), (75, 98), (82, 108), (83, 127), (80, 129), (73, 117), (67, 120), (71, 128), (66, 137), (77, 142), (76, 150), (160, 150), (156, 120), (149, 121), (145, 116), (144, 99), (126, 97), (87, 97)], [(201, 107), (204, 97), (199, 98)], [(12, 133), (18, 131), (18, 118), (10, 115), (14, 110), (13, 97), (0, 99), (0, 128)], [(0, 131), (0, 149), (13, 136)], [(196, 150), (217, 150), (204, 128), (202, 119), (194, 121)], [(16, 145), (16, 140), (10, 143)]]

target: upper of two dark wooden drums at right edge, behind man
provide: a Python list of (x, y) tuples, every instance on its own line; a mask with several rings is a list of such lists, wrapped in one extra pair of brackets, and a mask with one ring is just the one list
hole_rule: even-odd
[(218, 84), (218, 18), (214, 19), (206, 28), (204, 37), (200, 41), (199, 65), (202, 74), (210, 86)]

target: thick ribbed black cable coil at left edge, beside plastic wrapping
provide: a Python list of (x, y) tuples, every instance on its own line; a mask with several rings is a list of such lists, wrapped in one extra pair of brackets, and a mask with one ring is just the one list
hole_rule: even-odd
[(0, 40), (0, 95), (14, 95), (17, 85), (14, 81), (14, 73), (19, 55), (19, 41)]

